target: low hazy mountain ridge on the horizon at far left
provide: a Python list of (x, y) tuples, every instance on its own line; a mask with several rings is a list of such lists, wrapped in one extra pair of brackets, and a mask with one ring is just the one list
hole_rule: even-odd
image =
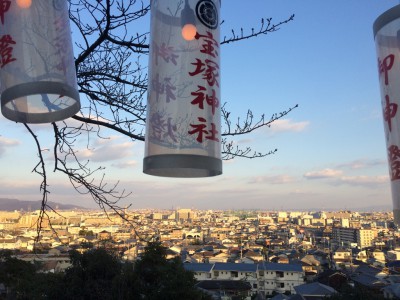
[[(34, 211), (40, 209), (42, 201), (21, 201), (17, 199), (0, 198), (0, 211)], [(72, 209), (86, 209), (81, 206), (71, 204), (61, 204), (57, 202), (48, 201), (47, 204), (54, 209), (59, 210), (72, 210)]]

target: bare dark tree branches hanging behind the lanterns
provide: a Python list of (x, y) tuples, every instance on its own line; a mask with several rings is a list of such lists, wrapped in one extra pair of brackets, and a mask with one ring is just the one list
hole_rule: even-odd
[[(78, 193), (90, 195), (104, 212), (111, 211), (124, 218), (124, 208), (118, 203), (131, 193), (119, 191), (118, 182), (109, 184), (103, 167), (92, 169), (92, 163), (79, 156), (81, 146), (77, 140), (85, 134), (89, 148), (91, 140), (104, 138), (102, 132), (107, 129), (133, 141), (144, 141), (149, 32), (147, 28), (143, 30), (140, 24), (148, 17), (150, 5), (141, 0), (69, 0), (69, 4), (82, 109), (79, 115), (73, 117), (76, 121), (73, 125), (66, 122), (53, 124), (53, 171), (65, 175)], [(278, 31), (293, 19), (294, 15), (291, 15), (276, 24), (272, 23), (271, 18), (262, 19), (258, 30), (252, 28), (248, 33), (242, 28), (239, 33), (232, 30), (232, 35), (225, 36), (221, 44), (259, 38)], [(242, 148), (234, 139), (269, 127), (296, 107), (274, 113), (269, 119), (265, 119), (264, 114), (255, 118), (253, 112), (248, 110), (244, 117), (234, 120), (224, 105), (223, 159), (261, 158), (276, 153), (277, 149), (256, 151), (250, 146)], [(43, 218), (48, 218), (47, 211), (52, 210), (47, 204), (50, 193), (46, 173), (48, 167), (43, 160), (37, 136), (29, 126), (25, 124), (25, 127), (35, 140), (39, 156), (33, 172), (42, 177), (42, 206), (37, 223), (39, 236)], [(131, 224), (135, 225), (135, 222)]]

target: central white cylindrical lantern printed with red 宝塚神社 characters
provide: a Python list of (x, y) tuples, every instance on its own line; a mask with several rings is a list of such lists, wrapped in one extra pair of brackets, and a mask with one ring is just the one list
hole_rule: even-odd
[(222, 174), (220, 0), (153, 0), (143, 172)]

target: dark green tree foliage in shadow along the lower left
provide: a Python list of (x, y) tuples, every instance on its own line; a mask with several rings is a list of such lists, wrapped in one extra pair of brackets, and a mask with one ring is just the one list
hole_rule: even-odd
[(38, 273), (37, 266), (0, 256), (0, 282), (15, 299), (208, 299), (179, 259), (167, 260), (159, 243), (149, 243), (137, 262), (123, 262), (103, 248), (70, 252), (65, 273)]

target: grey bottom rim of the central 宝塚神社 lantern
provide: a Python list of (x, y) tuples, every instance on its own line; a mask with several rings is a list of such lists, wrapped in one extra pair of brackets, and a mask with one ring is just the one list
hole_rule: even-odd
[(162, 154), (143, 159), (143, 173), (161, 177), (198, 178), (222, 174), (222, 160), (193, 154)]

